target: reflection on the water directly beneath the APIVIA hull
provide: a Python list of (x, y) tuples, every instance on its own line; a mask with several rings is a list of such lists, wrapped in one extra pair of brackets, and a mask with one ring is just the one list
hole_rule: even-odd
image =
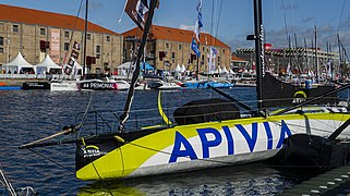
[(294, 180), (263, 163), (134, 180), (95, 182), (77, 195), (275, 195)]

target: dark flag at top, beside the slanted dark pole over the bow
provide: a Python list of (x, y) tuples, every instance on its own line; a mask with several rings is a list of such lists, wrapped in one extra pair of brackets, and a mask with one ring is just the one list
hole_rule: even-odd
[(147, 0), (128, 0), (124, 11), (143, 30), (148, 16)]

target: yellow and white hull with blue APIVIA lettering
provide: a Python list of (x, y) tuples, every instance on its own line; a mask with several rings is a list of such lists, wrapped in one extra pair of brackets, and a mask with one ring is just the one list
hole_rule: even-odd
[[(110, 137), (118, 147), (104, 154), (88, 139), (79, 146), (86, 159), (76, 171), (81, 180), (108, 180), (174, 173), (261, 161), (275, 156), (283, 139), (297, 133), (329, 136), (348, 113), (283, 114), (181, 125), (128, 140)], [(350, 138), (350, 127), (339, 137)]]

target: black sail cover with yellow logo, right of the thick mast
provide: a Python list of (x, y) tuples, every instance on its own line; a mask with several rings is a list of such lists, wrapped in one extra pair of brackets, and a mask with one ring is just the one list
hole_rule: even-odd
[[(336, 87), (331, 85), (322, 85), (315, 88), (306, 89), (303, 86), (297, 86), (277, 79), (270, 73), (266, 72), (263, 77), (263, 107), (282, 107), (293, 106), (318, 97)], [(337, 94), (318, 99), (313, 103), (331, 103), (337, 101)]]

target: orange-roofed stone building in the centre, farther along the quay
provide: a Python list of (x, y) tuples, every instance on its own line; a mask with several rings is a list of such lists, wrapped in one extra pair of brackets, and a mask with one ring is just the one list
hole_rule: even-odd
[[(132, 28), (123, 35), (124, 40), (124, 61), (131, 61), (132, 53), (140, 45), (142, 32), (137, 27)], [(153, 25), (149, 29), (146, 42), (145, 60), (157, 70), (173, 70), (178, 64), (185, 65), (190, 71), (194, 71), (198, 63), (200, 72), (208, 70), (209, 47), (215, 46), (218, 50), (216, 57), (216, 68), (226, 66), (229, 69), (231, 59), (231, 48), (214, 38), (209, 34), (201, 34), (200, 50), (201, 57), (194, 54), (191, 49), (193, 32)]]

